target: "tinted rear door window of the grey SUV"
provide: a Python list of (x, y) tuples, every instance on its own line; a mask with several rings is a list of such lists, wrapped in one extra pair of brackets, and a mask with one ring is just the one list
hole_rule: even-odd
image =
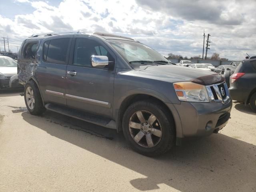
[[(44, 60), (49, 63), (66, 64), (70, 38), (53, 39), (44, 43)], [(46, 54), (46, 57), (45, 57)]]

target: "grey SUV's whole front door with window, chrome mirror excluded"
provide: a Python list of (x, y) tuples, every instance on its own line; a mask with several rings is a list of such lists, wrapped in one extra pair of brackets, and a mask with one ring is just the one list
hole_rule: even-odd
[(109, 61), (114, 61), (114, 58), (108, 48), (96, 40), (76, 38), (75, 41), (74, 65), (68, 65), (66, 73), (67, 105), (112, 117), (114, 71), (107, 68), (92, 68), (90, 56), (105, 55)]

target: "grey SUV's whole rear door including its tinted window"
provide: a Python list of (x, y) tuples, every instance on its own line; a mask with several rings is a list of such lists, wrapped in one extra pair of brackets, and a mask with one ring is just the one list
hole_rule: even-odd
[(54, 38), (43, 43), (36, 78), (44, 102), (66, 105), (66, 68), (71, 38)]

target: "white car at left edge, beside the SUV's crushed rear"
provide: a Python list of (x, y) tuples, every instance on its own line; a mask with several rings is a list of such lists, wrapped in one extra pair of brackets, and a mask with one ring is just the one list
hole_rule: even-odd
[[(10, 79), (16, 77), (16, 81), (10, 86)], [(22, 88), (18, 83), (17, 62), (10, 57), (0, 56), (0, 90), (7, 88)]]

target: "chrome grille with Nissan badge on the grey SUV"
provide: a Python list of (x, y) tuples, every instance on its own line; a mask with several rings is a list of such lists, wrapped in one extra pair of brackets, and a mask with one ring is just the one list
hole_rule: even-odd
[(229, 99), (228, 86), (224, 83), (206, 86), (210, 102), (227, 102)]

